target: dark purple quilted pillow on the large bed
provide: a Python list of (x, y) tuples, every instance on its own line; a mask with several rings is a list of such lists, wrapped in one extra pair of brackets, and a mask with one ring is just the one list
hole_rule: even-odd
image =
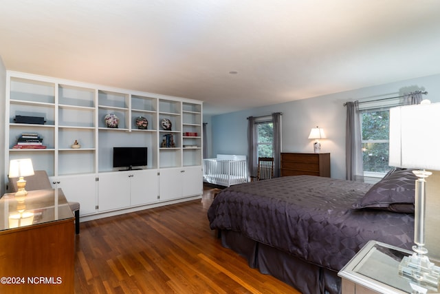
[(412, 169), (397, 169), (371, 187), (353, 208), (414, 213), (415, 180)]

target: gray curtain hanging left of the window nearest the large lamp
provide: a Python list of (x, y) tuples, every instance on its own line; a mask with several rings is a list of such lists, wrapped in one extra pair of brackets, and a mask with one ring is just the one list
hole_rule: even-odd
[(362, 140), (358, 101), (347, 102), (345, 131), (345, 168), (347, 180), (364, 180)]

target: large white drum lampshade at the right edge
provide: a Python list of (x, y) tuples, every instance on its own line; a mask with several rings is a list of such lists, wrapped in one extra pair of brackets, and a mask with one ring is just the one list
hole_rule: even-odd
[(390, 109), (391, 167), (440, 170), (440, 103)]

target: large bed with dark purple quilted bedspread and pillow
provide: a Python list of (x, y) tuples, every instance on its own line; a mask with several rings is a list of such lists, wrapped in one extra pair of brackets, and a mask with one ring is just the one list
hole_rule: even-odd
[(372, 185), (288, 176), (223, 189), (210, 228), (249, 266), (301, 293), (341, 293), (337, 273), (369, 240), (409, 249), (415, 176), (395, 170)]

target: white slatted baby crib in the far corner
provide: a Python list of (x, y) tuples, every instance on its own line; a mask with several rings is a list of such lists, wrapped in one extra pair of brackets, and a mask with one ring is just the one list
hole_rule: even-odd
[(203, 159), (203, 182), (224, 187), (248, 182), (246, 156), (218, 154)]

